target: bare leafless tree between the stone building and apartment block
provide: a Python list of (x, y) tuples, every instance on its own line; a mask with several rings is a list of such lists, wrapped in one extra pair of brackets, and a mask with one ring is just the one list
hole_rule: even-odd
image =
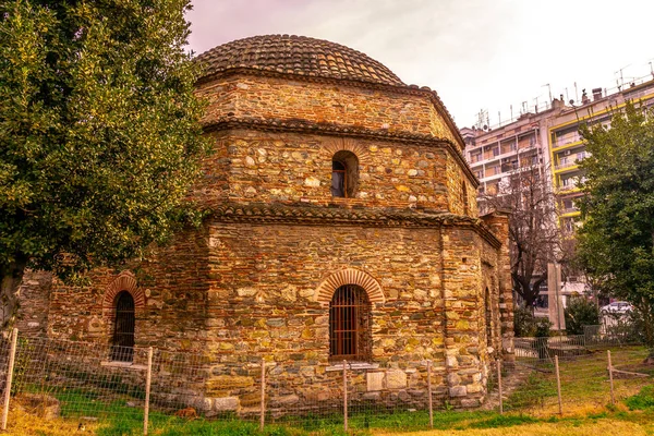
[(511, 213), (511, 278), (525, 307), (538, 298), (541, 286), (547, 282), (547, 264), (560, 253), (555, 198), (544, 171), (537, 165), (519, 168), (499, 183), (496, 193), (484, 197), (486, 207)]

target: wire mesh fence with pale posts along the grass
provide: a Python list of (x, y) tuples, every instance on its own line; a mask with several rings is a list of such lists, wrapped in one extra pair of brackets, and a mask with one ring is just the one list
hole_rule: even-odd
[[(516, 338), (516, 360), (452, 371), (445, 360), (386, 367), (216, 356), (17, 334), (0, 340), (3, 428), (10, 403), (43, 419), (143, 426), (201, 419), (254, 427), (429, 428), (452, 409), (534, 416), (590, 412), (653, 383), (647, 350), (600, 327)], [(131, 361), (116, 360), (128, 353)], [(11, 400), (10, 400), (11, 399)]]

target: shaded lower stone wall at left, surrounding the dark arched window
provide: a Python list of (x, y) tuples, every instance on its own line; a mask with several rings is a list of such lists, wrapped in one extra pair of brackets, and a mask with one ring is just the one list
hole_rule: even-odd
[[(171, 245), (155, 249), (142, 262), (117, 269), (94, 269), (87, 275), (86, 287), (55, 281), (48, 335), (109, 344), (114, 316), (110, 289), (125, 272), (136, 283), (133, 289), (126, 289), (136, 300), (136, 348), (202, 350), (206, 337), (208, 288), (203, 229), (182, 232)], [(123, 288), (119, 286), (117, 290)]]

